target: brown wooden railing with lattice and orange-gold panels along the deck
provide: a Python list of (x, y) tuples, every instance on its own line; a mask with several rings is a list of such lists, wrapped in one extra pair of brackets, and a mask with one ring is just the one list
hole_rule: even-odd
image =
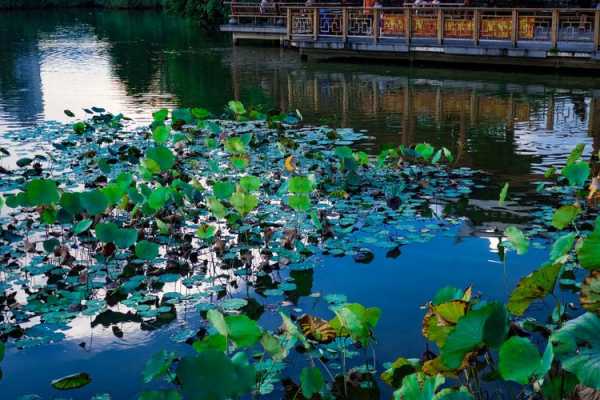
[[(319, 37), (544, 42), (560, 50), (563, 42), (600, 45), (600, 10), (471, 7), (344, 7), (338, 4), (231, 3), (237, 23), (287, 27), (288, 39)], [(588, 46), (589, 47), (589, 46)]]

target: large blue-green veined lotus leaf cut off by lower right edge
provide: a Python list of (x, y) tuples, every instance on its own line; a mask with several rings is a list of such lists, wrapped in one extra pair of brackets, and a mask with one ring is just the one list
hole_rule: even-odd
[(562, 368), (582, 385), (600, 389), (600, 317), (590, 312), (566, 322), (550, 336)]

